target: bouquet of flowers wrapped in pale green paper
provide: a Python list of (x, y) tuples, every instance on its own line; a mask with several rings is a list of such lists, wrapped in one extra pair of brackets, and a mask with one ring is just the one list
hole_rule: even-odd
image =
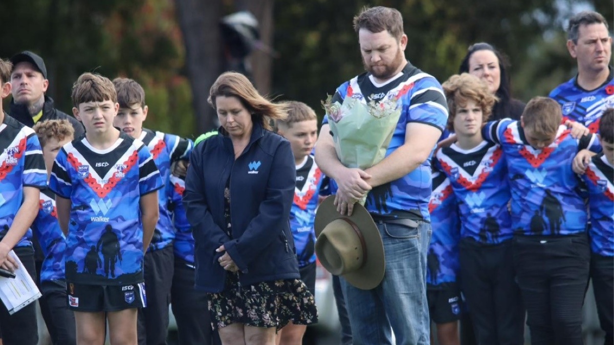
[[(367, 169), (386, 156), (386, 150), (401, 115), (400, 95), (379, 102), (365, 102), (352, 97), (351, 90), (342, 104), (328, 96), (322, 107), (328, 115), (335, 150), (341, 164), (348, 168)], [(366, 196), (359, 200), (365, 204)]]

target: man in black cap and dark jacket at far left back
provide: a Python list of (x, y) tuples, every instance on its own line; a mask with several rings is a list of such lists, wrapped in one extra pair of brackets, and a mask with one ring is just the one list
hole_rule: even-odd
[(44, 120), (65, 118), (71, 122), (75, 138), (85, 133), (83, 125), (76, 118), (66, 115), (53, 107), (53, 99), (45, 96), (49, 87), (47, 68), (41, 56), (29, 52), (18, 53), (10, 58), (13, 70), (10, 74), (13, 100), (9, 115), (28, 127)]

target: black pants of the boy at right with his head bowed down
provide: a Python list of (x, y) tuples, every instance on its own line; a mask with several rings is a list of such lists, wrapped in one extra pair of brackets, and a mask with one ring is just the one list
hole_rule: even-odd
[(514, 265), (532, 345), (581, 345), (589, 273), (586, 233), (517, 236)]

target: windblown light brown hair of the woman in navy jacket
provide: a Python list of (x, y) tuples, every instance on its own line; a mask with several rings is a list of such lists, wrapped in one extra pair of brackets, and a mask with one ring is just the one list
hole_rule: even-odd
[(238, 98), (252, 114), (252, 122), (260, 123), (265, 130), (273, 130), (271, 120), (284, 120), (288, 117), (286, 106), (275, 104), (260, 95), (249, 79), (241, 73), (224, 72), (217, 77), (207, 99), (216, 110), (216, 98), (220, 96)]

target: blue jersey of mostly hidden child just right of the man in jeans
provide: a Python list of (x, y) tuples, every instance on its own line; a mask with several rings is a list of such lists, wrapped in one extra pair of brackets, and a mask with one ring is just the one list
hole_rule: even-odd
[(433, 171), (433, 193), (429, 201), (433, 233), (427, 253), (426, 282), (429, 289), (457, 282), (461, 224), (454, 190), (445, 174)]

